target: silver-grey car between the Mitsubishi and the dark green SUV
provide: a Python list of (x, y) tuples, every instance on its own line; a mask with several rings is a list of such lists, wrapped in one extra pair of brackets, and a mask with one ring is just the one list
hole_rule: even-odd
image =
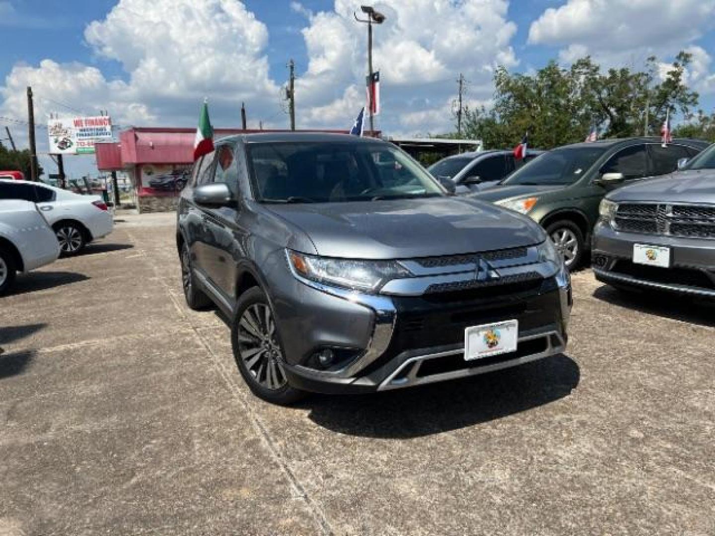
[(428, 171), (433, 177), (451, 179), (455, 184), (455, 193), (478, 192), (478, 185), (497, 183), (526, 162), (538, 157), (543, 151), (527, 149), (526, 157), (521, 161), (509, 151), (478, 151), (455, 154), (432, 164)]

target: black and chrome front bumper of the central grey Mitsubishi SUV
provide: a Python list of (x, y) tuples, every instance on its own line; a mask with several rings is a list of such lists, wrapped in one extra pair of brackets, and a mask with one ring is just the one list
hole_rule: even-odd
[[(305, 292), (322, 294), (315, 299), (324, 303), (325, 298), (339, 299), (332, 294), (336, 289), (320, 289), (313, 284), (304, 287)], [(373, 330), (363, 346), (364, 351), (355, 362), (338, 371), (306, 367), (302, 364), (305, 359), (290, 354), (284, 369), (294, 387), (327, 393), (375, 392), (482, 374), (548, 357), (566, 349), (566, 327), (572, 304), (570, 285), (560, 286), (556, 277), (479, 292), (465, 290), (410, 296), (352, 293), (345, 294), (343, 301), (346, 306), (370, 312)], [(334, 316), (329, 319), (325, 315), (323, 319), (335, 326)], [(516, 352), (465, 361), (465, 328), (508, 319), (519, 322)], [(364, 337), (364, 326), (359, 324), (355, 337)], [(312, 331), (322, 330), (314, 324)], [(335, 334), (340, 347), (345, 347), (351, 332), (352, 328), (339, 336)], [(304, 336), (312, 337), (307, 332)], [(338, 346), (325, 338), (320, 344)], [(313, 349), (315, 346), (311, 351)]]

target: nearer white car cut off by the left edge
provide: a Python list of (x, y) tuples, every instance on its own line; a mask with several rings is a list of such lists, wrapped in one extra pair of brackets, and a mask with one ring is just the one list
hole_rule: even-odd
[(59, 244), (36, 205), (0, 199), (0, 296), (12, 288), (16, 272), (54, 262)]

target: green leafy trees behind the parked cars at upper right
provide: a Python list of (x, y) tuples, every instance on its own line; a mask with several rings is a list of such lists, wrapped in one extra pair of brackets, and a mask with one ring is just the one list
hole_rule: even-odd
[(513, 147), (528, 131), (531, 147), (551, 149), (583, 141), (593, 124), (600, 137), (641, 136), (647, 109), (648, 133), (657, 136), (667, 111), (688, 117), (698, 103), (698, 94), (684, 81), (690, 61), (690, 54), (678, 54), (659, 83), (654, 57), (644, 71), (602, 71), (588, 56), (568, 69), (551, 61), (535, 74), (500, 67), (493, 108), (466, 110), (463, 131), (490, 148)]

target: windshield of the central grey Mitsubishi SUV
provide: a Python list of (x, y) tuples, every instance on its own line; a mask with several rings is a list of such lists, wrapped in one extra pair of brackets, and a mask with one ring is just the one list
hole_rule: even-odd
[(247, 146), (255, 197), (265, 203), (335, 203), (438, 197), (444, 190), (385, 143), (271, 142)]

